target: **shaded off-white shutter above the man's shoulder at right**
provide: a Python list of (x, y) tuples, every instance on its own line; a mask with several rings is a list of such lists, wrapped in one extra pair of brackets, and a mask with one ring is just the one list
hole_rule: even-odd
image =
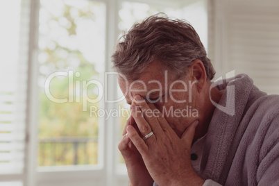
[(215, 54), (222, 56), (217, 62), (222, 74), (235, 69), (253, 78), (260, 90), (279, 94), (279, 1), (214, 2), (215, 42), (222, 40)]

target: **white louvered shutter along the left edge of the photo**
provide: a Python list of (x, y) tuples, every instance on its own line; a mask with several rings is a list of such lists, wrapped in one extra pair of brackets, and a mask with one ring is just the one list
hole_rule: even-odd
[(24, 178), (29, 9), (28, 0), (0, 1), (0, 185)]

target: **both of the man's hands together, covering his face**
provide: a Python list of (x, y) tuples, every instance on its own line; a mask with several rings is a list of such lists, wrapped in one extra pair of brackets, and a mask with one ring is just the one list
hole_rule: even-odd
[[(155, 105), (135, 96), (131, 116), (124, 128), (119, 150), (124, 156), (132, 185), (203, 185), (190, 160), (191, 145), (198, 121), (179, 138)], [(142, 137), (151, 134), (146, 140)], [(133, 152), (133, 153), (132, 153)], [(133, 167), (134, 166), (134, 167)], [(142, 178), (141, 178), (142, 177)]]

